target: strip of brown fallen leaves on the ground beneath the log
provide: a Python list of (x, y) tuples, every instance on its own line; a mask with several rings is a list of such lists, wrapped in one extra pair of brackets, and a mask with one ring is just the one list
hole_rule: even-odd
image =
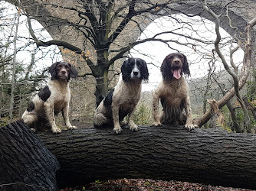
[(228, 190), (228, 191), (249, 191), (252, 189), (238, 189), (222, 186), (203, 185), (200, 183), (188, 183), (181, 181), (162, 181), (162, 180), (150, 180), (150, 179), (120, 179), (120, 180), (107, 180), (104, 182), (95, 181), (77, 188), (65, 188), (60, 191), (163, 191), (163, 190)]

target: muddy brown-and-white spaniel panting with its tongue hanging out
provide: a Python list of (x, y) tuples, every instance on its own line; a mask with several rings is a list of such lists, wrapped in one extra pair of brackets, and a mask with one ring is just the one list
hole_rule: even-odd
[[(162, 62), (162, 81), (153, 92), (153, 125), (185, 125), (192, 130), (189, 87), (182, 73), (190, 74), (187, 59), (182, 53), (170, 53)], [(159, 99), (162, 115), (159, 117)], [(185, 108), (185, 113), (183, 112)]]

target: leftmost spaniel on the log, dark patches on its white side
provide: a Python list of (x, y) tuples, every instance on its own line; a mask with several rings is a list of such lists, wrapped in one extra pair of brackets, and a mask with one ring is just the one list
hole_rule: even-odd
[(69, 89), (70, 78), (78, 76), (77, 70), (71, 66), (71, 63), (57, 62), (51, 65), (49, 72), (51, 80), (48, 85), (41, 89), (34, 96), (27, 110), (23, 113), (22, 119), (31, 127), (37, 128), (37, 122), (45, 121), (51, 126), (54, 134), (61, 133), (61, 129), (57, 128), (54, 115), (62, 112), (65, 124), (68, 129), (74, 129), (68, 117), (69, 102), (71, 92)]

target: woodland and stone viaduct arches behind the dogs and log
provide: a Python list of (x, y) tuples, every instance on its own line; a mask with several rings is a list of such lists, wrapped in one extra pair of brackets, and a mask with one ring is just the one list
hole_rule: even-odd
[[(21, 118), (28, 102), (47, 83), (48, 66), (57, 60), (72, 63), (80, 74), (71, 80), (71, 120), (92, 123), (94, 109), (117, 83), (126, 57), (151, 60), (147, 63), (154, 69), (149, 75), (159, 70), (162, 60), (136, 48), (146, 42), (153, 46), (159, 42), (170, 53), (185, 53), (194, 65), (191, 73), (205, 71), (204, 75), (187, 78), (193, 118), (203, 121), (200, 126), (211, 128), (212, 121), (205, 117), (211, 113), (207, 99), (215, 99), (225, 117), (225, 123), (218, 125), (228, 131), (255, 133), (254, 5), (250, 0), (1, 1), (0, 124)], [(21, 15), (25, 19), (20, 19)], [(165, 32), (149, 31), (151, 35), (140, 36), (150, 23), (162, 17), (178, 27), (173, 24)], [(210, 34), (205, 36), (202, 34), (206, 31), (200, 31), (199, 26), (209, 26), (208, 20), (214, 23), (206, 28)], [(37, 28), (35, 21), (43, 28)], [(159, 28), (166, 27), (163, 21), (158, 24)], [(218, 35), (220, 26), (228, 37)], [(51, 37), (45, 36), (45, 30)], [(238, 50), (244, 53), (233, 57)], [(155, 50), (155, 54), (161, 51)], [(135, 113), (138, 125), (153, 121), (151, 93), (152, 89), (142, 93)], [(60, 116), (58, 121), (63, 124)]]

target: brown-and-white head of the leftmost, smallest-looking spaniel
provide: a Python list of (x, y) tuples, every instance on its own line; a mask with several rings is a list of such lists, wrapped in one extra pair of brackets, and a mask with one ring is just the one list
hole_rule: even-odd
[(77, 78), (78, 72), (74, 69), (71, 63), (57, 62), (50, 66), (49, 72), (51, 73), (51, 79), (67, 80), (71, 78)]

